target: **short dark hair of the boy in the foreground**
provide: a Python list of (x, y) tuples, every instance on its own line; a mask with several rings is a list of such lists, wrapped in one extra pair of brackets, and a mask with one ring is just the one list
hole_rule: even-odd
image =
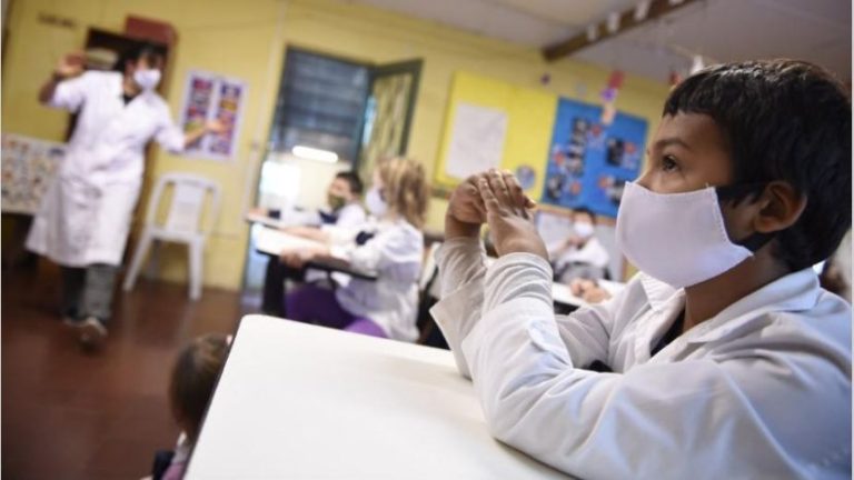
[(842, 83), (803, 61), (727, 63), (671, 92), (664, 114), (681, 112), (721, 128), (734, 184), (783, 180), (806, 197), (797, 221), (774, 237), (774, 254), (790, 269), (836, 250), (851, 227), (851, 98)]

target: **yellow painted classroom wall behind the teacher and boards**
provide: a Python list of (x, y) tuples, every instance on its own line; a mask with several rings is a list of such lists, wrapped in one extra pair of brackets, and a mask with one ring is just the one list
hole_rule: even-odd
[[(258, 156), (272, 117), (274, 98), (286, 44), (375, 63), (424, 59), (420, 89), (409, 139), (409, 154), (430, 171), (438, 157), (450, 80), (466, 70), (526, 88), (595, 102), (609, 71), (564, 60), (545, 63), (538, 51), (409, 17), (334, 0), (16, 0), (3, 58), (3, 131), (44, 139), (61, 139), (66, 117), (40, 107), (39, 84), (67, 51), (80, 48), (88, 27), (120, 31), (125, 17), (136, 14), (168, 21), (178, 31), (167, 100), (177, 113), (189, 69), (202, 69), (244, 79), (248, 103), (230, 163), (183, 159), (157, 150), (150, 172), (195, 171), (220, 182), (224, 209), (207, 254), (205, 282), (238, 288), (248, 228), (242, 209), (254, 193)], [(72, 29), (38, 21), (51, 13), (77, 22)], [(550, 73), (547, 87), (539, 83)], [(578, 97), (579, 86), (587, 94)], [(617, 106), (645, 118), (654, 131), (667, 87), (627, 77)], [(545, 159), (543, 159), (545, 161)], [(147, 199), (143, 198), (142, 201)], [(439, 229), (445, 201), (431, 202), (428, 227)], [(165, 276), (183, 279), (186, 256), (167, 256)]]

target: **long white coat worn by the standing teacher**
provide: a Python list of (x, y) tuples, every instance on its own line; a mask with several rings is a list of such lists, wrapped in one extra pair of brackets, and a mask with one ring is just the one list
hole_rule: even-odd
[(27, 248), (68, 267), (117, 266), (139, 198), (145, 147), (153, 138), (180, 151), (183, 132), (156, 92), (126, 106), (119, 72), (89, 71), (60, 82), (49, 104), (79, 117)]

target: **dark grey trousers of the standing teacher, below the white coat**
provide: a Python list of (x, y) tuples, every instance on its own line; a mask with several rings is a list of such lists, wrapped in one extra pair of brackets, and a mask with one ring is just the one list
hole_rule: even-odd
[(86, 268), (62, 267), (62, 314), (96, 317), (107, 322), (112, 317), (112, 293), (117, 266), (95, 263)]

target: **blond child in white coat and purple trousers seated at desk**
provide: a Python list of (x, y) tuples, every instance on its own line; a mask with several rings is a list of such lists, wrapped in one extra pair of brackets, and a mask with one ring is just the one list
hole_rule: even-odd
[(282, 261), (300, 268), (317, 256), (331, 254), (347, 259), (357, 270), (376, 272), (377, 279), (351, 278), (336, 290), (306, 284), (287, 294), (285, 317), (415, 341), (417, 281), (424, 251), (420, 229), (427, 213), (424, 168), (403, 158), (379, 162), (366, 203), (377, 219), (373, 227), (349, 236), (332, 236), (336, 238), (327, 238), (329, 247), (287, 253)]

